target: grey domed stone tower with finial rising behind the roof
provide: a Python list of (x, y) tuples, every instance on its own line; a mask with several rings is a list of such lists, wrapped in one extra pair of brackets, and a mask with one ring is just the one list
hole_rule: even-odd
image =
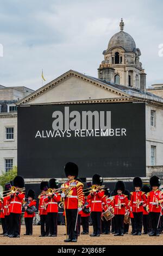
[(121, 19), (120, 32), (112, 36), (107, 50), (103, 51), (104, 60), (98, 69), (98, 78), (122, 84), (127, 87), (146, 89), (146, 73), (139, 61), (141, 51), (131, 35), (123, 31)]

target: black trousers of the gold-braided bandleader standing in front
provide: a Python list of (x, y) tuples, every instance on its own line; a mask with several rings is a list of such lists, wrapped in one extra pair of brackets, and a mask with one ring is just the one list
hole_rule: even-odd
[(78, 228), (75, 231), (78, 209), (66, 209), (68, 239), (78, 239)]

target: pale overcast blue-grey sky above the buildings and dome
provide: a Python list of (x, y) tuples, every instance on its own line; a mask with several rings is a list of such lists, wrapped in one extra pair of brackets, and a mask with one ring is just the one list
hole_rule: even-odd
[(0, 0), (0, 84), (38, 89), (41, 69), (46, 83), (70, 69), (97, 77), (121, 17), (141, 50), (147, 85), (163, 83), (162, 11), (162, 0)]

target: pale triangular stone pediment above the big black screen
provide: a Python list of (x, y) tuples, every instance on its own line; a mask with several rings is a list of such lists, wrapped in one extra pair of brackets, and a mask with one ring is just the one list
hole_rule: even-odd
[(18, 101), (17, 105), (118, 99), (128, 96), (122, 90), (96, 80), (96, 78), (70, 70)]

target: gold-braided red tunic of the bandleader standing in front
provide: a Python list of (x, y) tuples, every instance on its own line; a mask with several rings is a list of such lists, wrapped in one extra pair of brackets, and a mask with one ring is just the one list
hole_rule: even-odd
[(78, 180), (67, 181), (61, 185), (62, 192), (65, 192), (66, 188), (71, 187), (70, 192), (65, 197), (65, 209), (78, 209), (83, 205), (83, 183)]

